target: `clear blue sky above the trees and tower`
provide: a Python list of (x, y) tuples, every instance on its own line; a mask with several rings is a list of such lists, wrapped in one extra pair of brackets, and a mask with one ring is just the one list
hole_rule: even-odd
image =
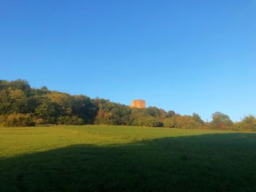
[(240, 120), (256, 114), (256, 0), (0, 0), (0, 79)]

